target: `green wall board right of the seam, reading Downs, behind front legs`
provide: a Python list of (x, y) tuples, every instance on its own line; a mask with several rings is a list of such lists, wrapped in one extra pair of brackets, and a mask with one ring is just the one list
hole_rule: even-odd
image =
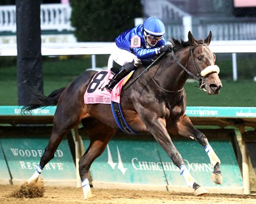
[[(198, 184), (211, 187), (242, 188), (242, 177), (230, 141), (210, 141), (210, 145), (221, 160), (223, 184), (218, 185), (210, 180), (213, 171), (210, 160), (204, 148), (195, 141), (174, 141), (177, 150), (183, 156), (184, 163)], [(159, 147), (163, 162), (170, 161), (168, 155)], [(172, 162), (171, 162), (172, 163)], [(172, 164), (173, 165), (173, 164)], [(187, 186), (178, 168), (167, 169), (169, 185)]]

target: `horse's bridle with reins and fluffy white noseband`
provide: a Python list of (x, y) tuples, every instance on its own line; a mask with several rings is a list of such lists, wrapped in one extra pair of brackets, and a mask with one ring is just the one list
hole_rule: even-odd
[[(218, 68), (217, 65), (211, 65), (211, 66), (208, 66), (206, 67), (203, 71), (200, 70), (199, 66), (197, 65), (196, 61), (195, 61), (195, 57), (194, 57), (194, 54), (193, 54), (193, 50), (195, 48), (197, 48), (198, 46), (205, 46), (205, 45), (208, 45), (208, 44), (198, 44), (198, 45), (190, 45), (189, 46), (189, 54), (191, 55), (192, 59), (193, 59), (193, 63), (196, 67), (196, 72), (197, 74), (193, 74), (191, 73), (191, 71), (189, 71), (186, 67), (184, 67), (179, 59), (177, 59), (177, 57), (175, 56), (175, 53), (174, 53), (174, 50), (172, 50), (172, 57), (174, 58), (174, 61), (189, 75), (191, 76), (191, 78), (197, 80), (197, 82), (199, 82), (199, 88), (200, 89), (203, 89), (204, 90), (204, 87), (205, 87), (205, 82), (204, 82), (204, 77), (207, 75), (207, 74), (210, 74), (210, 73), (213, 73), (213, 72), (216, 72), (217, 74), (220, 72), (220, 69)], [(203, 73), (203, 74), (202, 74)], [(205, 90), (204, 90), (205, 91)]]

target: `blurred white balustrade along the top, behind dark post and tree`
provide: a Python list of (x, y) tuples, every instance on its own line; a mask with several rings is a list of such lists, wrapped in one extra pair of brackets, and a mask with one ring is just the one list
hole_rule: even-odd
[[(144, 1), (144, 10), (155, 9), (155, 16), (164, 20), (166, 24), (166, 39), (171, 37), (187, 39), (188, 31), (191, 31), (196, 39), (213, 32), (213, 40), (256, 40), (255, 18), (200, 18), (187, 14), (168, 1), (160, 3), (147, 3)], [(72, 8), (68, 4), (51, 3), (41, 5), (41, 29), (42, 31), (73, 31), (71, 26)], [(147, 14), (147, 13), (146, 13)], [(151, 13), (151, 15), (153, 15)], [(0, 6), (0, 32), (16, 32), (16, 7)], [(171, 19), (171, 21), (169, 20)]]

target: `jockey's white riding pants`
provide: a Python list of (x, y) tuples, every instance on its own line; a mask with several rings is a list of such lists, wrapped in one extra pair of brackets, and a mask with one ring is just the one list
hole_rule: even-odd
[(138, 60), (135, 54), (129, 52), (128, 50), (118, 48), (118, 46), (115, 44), (113, 46), (113, 52), (111, 56), (113, 60), (121, 66), (125, 65), (128, 62), (132, 62), (134, 59), (135, 61)]

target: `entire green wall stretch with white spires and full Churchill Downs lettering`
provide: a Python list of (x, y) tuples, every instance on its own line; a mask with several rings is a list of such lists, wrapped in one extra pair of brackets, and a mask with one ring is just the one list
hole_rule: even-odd
[[(213, 131), (214, 133), (214, 131)], [(130, 136), (131, 138), (133, 136)], [(84, 146), (88, 145), (84, 139)], [(207, 153), (192, 140), (174, 139), (191, 175), (201, 185), (209, 188), (240, 189), (242, 177), (228, 137), (211, 140), (214, 151), (221, 160), (223, 184), (210, 180), (213, 171)], [(104, 153), (90, 168), (94, 183), (118, 183), (156, 186), (187, 186), (179, 168), (153, 139), (115, 139), (109, 142)], [(232, 191), (230, 191), (232, 192)]]

